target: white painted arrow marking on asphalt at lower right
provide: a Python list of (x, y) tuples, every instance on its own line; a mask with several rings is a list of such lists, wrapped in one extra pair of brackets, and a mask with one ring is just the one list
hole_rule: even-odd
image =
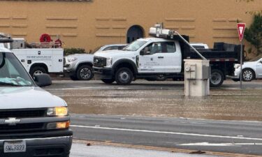
[(187, 143), (187, 144), (177, 144), (177, 146), (242, 146), (242, 145), (262, 145), (262, 143)]

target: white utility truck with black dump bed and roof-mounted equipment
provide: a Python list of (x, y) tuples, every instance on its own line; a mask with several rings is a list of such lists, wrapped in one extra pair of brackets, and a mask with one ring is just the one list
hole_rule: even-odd
[[(127, 85), (137, 78), (157, 80), (159, 78), (184, 79), (184, 59), (200, 59), (200, 55), (189, 46), (189, 36), (169, 29), (152, 27), (150, 36), (140, 38), (124, 50), (94, 55), (95, 77), (106, 84), (117, 82)], [(185, 42), (187, 40), (187, 42)], [(234, 64), (240, 63), (240, 45), (214, 43), (214, 49), (199, 49), (198, 52), (210, 60), (210, 85), (219, 87), (226, 75), (233, 75)]]

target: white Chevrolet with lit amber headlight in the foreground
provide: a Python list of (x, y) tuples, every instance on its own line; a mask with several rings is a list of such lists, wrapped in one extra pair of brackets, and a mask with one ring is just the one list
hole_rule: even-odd
[(33, 80), (13, 52), (0, 48), (1, 157), (69, 156), (73, 132), (66, 102), (41, 89), (51, 83), (48, 74)]

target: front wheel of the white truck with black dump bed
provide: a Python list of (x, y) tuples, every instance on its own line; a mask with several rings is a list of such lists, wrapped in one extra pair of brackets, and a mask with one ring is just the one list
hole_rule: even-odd
[(119, 85), (129, 85), (133, 80), (133, 72), (129, 68), (119, 68), (115, 73), (115, 81)]

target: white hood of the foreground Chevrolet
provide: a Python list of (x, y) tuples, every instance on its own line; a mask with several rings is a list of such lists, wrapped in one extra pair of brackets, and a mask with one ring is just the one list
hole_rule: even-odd
[(0, 110), (59, 106), (66, 102), (40, 87), (0, 87)]

